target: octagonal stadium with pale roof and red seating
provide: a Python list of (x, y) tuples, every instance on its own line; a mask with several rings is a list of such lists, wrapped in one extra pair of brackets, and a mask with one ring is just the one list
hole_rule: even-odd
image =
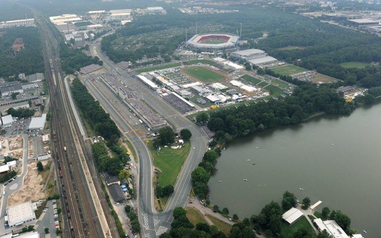
[(205, 33), (194, 35), (187, 46), (200, 51), (223, 51), (236, 48), (238, 40), (237, 35), (230, 33)]

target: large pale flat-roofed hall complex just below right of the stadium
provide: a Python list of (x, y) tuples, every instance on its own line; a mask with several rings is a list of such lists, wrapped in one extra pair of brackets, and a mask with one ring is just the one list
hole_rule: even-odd
[(278, 61), (277, 59), (268, 56), (264, 51), (258, 49), (236, 51), (231, 53), (230, 56), (236, 60), (245, 60), (246, 62), (255, 64), (259, 67)]

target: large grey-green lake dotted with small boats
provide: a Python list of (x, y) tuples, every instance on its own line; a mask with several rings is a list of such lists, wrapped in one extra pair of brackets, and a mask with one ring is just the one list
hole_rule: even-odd
[(381, 104), (236, 138), (216, 168), (210, 200), (231, 215), (257, 214), (289, 190), (299, 200), (321, 200), (318, 211), (327, 206), (348, 214), (365, 238), (380, 238)]

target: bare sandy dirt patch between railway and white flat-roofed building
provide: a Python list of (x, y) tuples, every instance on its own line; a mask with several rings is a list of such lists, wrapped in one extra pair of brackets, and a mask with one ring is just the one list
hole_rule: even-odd
[[(48, 164), (48, 161), (41, 161), (44, 167)], [(22, 202), (27, 201), (38, 201), (40, 199), (45, 199), (48, 197), (46, 191), (42, 191), (42, 188), (46, 182), (41, 174), (37, 171), (37, 162), (31, 162), (28, 164), (28, 173), (24, 178), (24, 184), (20, 190), (12, 193), (8, 197), (7, 206), (13, 206)], [(49, 173), (49, 171), (46, 171)]]

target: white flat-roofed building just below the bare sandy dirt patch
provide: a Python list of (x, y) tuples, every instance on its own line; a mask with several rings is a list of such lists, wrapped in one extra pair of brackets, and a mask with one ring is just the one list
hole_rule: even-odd
[(21, 225), (36, 219), (32, 202), (24, 202), (6, 209), (9, 227)]

